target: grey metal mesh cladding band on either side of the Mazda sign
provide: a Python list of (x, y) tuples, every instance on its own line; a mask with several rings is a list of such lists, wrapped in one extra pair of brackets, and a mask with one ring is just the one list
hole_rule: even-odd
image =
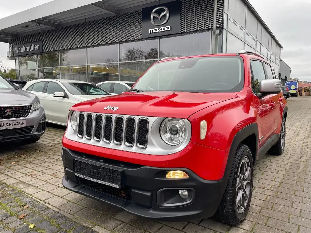
[[(181, 0), (180, 32), (213, 27), (214, 0)], [(217, 27), (222, 27), (223, 0), (217, 1)], [(142, 39), (142, 11), (94, 20), (36, 34), (12, 38), (12, 44), (42, 40), (43, 52)]]

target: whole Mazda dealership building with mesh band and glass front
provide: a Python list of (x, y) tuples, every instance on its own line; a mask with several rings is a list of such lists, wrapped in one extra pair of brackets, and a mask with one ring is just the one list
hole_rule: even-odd
[(282, 46), (248, 0), (53, 0), (0, 19), (0, 41), (26, 81), (136, 81), (164, 57), (242, 49), (281, 73)]

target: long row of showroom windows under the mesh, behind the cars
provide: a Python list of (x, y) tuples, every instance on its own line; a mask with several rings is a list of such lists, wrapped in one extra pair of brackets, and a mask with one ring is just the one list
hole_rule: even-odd
[[(217, 30), (218, 51), (222, 32)], [(69, 79), (99, 83), (137, 79), (164, 57), (211, 53), (211, 31), (16, 57), (21, 80)]]

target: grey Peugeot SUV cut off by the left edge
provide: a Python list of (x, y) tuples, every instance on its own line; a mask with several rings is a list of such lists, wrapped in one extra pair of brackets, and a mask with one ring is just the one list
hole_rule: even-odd
[(33, 143), (44, 132), (45, 112), (39, 98), (0, 75), (0, 143)]

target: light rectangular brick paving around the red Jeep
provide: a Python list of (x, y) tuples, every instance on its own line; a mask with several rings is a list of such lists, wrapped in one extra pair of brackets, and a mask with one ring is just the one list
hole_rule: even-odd
[[(311, 233), (309, 96), (289, 98), (285, 152), (281, 156), (266, 155), (258, 162), (254, 171), (250, 211), (238, 227), (211, 219), (192, 222), (150, 221), (64, 189), (61, 160), (63, 134), (64, 128), (51, 125), (34, 144), (2, 147), (0, 181), (72, 219), (72, 222), (63, 226), (64, 231), (79, 223), (102, 233)], [(53, 232), (53, 229), (49, 232)], [(72, 232), (83, 231), (79, 226)]]

